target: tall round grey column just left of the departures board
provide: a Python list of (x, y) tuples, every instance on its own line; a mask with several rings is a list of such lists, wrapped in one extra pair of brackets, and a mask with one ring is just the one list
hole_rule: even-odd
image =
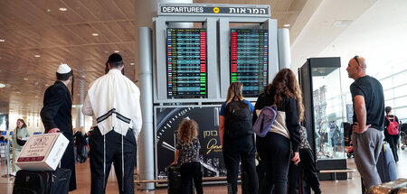
[[(184, 3), (192, 4), (192, 0), (137, 0), (136, 2), (136, 80), (141, 93), (141, 108), (143, 128), (137, 142), (137, 177), (138, 180), (154, 180), (154, 122), (153, 122), (153, 78), (152, 67), (154, 49), (152, 34), (149, 29), (153, 27), (153, 17), (156, 17), (158, 3)], [(192, 23), (172, 24), (172, 28), (193, 27)], [(150, 53), (148, 53), (150, 51)], [(165, 57), (165, 56), (163, 56)], [(137, 185), (136, 185), (137, 187)], [(140, 184), (138, 189), (155, 189), (154, 183)]]

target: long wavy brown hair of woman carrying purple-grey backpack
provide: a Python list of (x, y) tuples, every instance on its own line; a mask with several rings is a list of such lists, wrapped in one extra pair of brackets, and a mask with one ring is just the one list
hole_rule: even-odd
[(291, 69), (281, 69), (273, 81), (267, 85), (266, 94), (270, 95), (271, 88), (275, 89), (274, 103), (282, 104), (285, 97), (297, 99), (299, 120), (304, 119), (304, 105), (302, 104), (301, 88), (299, 88), (296, 76)]

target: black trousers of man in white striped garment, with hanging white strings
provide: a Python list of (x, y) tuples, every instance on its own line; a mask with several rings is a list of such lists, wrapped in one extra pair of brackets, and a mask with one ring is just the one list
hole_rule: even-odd
[[(121, 148), (121, 134), (111, 130), (104, 135), (106, 138), (106, 150), (103, 145), (103, 135), (99, 128), (95, 127), (90, 134), (90, 176), (91, 194), (104, 194), (106, 183), (109, 178), (110, 166), (113, 162), (116, 177), (118, 179), (118, 189), (120, 194), (134, 194), (134, 166), (136, 162), (137, 143), (131, 129), (126, 136), (123, 136), (123, 152)], [(103, 173), (103, 155), (106, 154), (106, 169)], [(122, 178), (122, 154), (124, 157), (124, 177)]]

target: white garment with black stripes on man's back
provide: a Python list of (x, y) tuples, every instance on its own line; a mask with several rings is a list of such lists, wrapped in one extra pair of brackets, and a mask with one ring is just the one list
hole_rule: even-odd
[(102, 135), (112, 129), (126, 135), (132, 128), (137, 140), (142, 125), (140, 90), (120, 70), (110, 69), (90, 84), (82, 113), (93, 116)]

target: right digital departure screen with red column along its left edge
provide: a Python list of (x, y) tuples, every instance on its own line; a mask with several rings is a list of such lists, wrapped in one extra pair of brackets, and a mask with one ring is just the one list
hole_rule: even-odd
[(268, 84), (269, 32), (231, 30), (231, 83), (243, 84), (244, 97), (258, 97)]

